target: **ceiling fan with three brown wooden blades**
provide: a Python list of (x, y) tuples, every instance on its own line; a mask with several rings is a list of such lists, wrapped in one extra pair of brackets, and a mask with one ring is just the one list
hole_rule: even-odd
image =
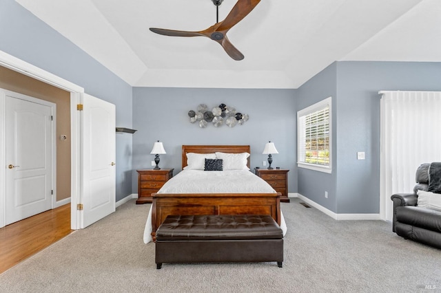
[(244, 19), (249, 12), (251, 12), (260, 0), (238, 0), (232, 11), (229, 12), (227, 17), (220, 21), (218, 20), (218, 7), (223, 0), (211, 0), (216, 6), (216, 23), (206, 30), (199, 32), (187, 32), (183, 30), (167, 30), (163, 28), (150, 28), (152, 32), (156, 34), (163, 34), (164, 36), (206, 36), (213, 41), (218, 42), (225, 52), (236, 61), (244, 58), (243, 54), (234, 47), (234, 45), (227, 38), (227, 32), (239, 21)]

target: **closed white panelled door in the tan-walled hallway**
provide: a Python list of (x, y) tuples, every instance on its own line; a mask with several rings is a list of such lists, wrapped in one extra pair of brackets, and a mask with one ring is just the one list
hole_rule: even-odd
[(52, 208), (54, 105), (11, 91), (2, 92), (6, 96), (8, 225)]

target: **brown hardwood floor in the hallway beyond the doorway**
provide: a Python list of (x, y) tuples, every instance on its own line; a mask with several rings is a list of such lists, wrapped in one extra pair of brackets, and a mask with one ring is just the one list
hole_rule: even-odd
[(71, 232), (70, 204), (0, 228), (0, 274)]

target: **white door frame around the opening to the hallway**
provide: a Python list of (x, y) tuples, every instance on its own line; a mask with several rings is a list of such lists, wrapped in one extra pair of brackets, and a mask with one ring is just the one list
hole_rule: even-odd
[[(37, 66), (22, 61), (6, 52), (0, 50), (0, 65), (8, 69), (19, 72), (25, 76), (30, 76), (43, 83), (48, 83), (70, 92), (70, 130), (71, 130), (71, 191), (70, 191), (70, 226), (72, 230), (81, 228), (81, 210), (76, 210), (77, 204), (81, 203), (81, 111), (76, 110), (76, 105), (83, 103), (84, 88), (75, 85), (68, 80), (60, 78)], [(4, 111), (5, 105), (0, 102), (0, 113)], [(4, 117), (4, 116), (3, 116)], [(5, 122), (0, 119), (0, 206), (6, 204), (6, 150), (5, 142)], [(0, 208), (0, 228), (5, 226), (6, 215)]]

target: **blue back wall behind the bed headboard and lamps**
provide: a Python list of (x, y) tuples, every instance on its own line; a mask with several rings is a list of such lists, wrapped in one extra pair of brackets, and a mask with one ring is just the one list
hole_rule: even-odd
[[(161, 155), (162, 168), (181, 171), (182, 144), (249, 144), (251, 166), (262, 167), (265, 143), (271, 140), (278, 154), (272, 166), (290, 169), (289, 192), (297, 191), (296, 173), (296, 100), (294, 89), (133, 89), (133, 126), (139, 129), (133, 138), (133, 192), (137, 193), (136, 169), (151, 169), (153, 143), (161, 140), (167, 154)], [(249, 114), (249, 120), (235, 127), (201, 129), (189, 122), (187, 112), (200, 104), (209, 108), (220, 103)]]

